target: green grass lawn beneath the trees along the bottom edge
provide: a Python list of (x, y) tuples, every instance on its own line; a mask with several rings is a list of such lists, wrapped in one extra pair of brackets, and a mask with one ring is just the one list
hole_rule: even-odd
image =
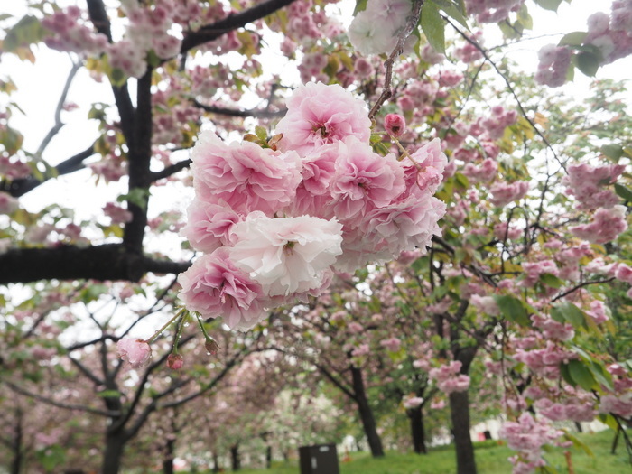
[[(632, 473), (623, 441), (619, 441), (616, 455), (610, 454), (613, 432), (583, 433), (577, 437), (589, 446), (594, 456), (577, 448), (569, 448), (574, 474), (625, 474)], [(510, 474), (507, 458), (514, 454), (497, 441), (475, 443), (479, 474)], [(568, 474), (565, 451), (558, 448), (545, 457), (559, 474)], [(341, 457), (340, 457), (341, 458)], [(454, 452), (451, 446), (435, 448), (426, 456), (386, 453), (382, 459), (373, 459), (367, 453), (351, 453), (351, 460), (340, 462), (340, 474), (454, 474)], [(299, 474), (298, 461), (275, 462), (272, 469), (242, 469), (241, 474)]]

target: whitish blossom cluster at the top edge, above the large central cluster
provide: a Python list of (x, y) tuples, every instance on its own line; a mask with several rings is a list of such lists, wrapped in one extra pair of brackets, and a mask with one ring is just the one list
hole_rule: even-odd
[(367, 9), (358, 12), (349, 25), (351, 45), (365, 56), (390, 53), (411, 5), (409, 0), (368, 0)]

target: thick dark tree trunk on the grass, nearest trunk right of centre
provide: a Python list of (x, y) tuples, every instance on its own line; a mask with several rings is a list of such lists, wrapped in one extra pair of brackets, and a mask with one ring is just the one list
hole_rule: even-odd
[(457, 474), (476, 474), (474, 445), (469, 435), (469, 396), (465, 392), (450, 394), (452, 433), (457, 451)]

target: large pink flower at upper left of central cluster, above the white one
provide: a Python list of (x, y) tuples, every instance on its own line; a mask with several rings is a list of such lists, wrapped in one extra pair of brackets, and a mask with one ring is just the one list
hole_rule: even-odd
[(225, 144), (213, 132), (200, 134), (191, 152), (193, 185), (200, 200), (237, 212), (272, 215), (293, 200), (301, 181), (301, 159), (257, 144)]

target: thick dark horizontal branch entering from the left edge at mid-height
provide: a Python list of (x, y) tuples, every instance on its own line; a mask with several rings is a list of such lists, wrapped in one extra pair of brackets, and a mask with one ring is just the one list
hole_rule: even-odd
[(0, 284), (38, 280), (125, 280), (137, 282), (147, 272), (179, 274), (190, 262), (154, 260), (128, 252), (121, 244), (15, 248), (0, 254)]

